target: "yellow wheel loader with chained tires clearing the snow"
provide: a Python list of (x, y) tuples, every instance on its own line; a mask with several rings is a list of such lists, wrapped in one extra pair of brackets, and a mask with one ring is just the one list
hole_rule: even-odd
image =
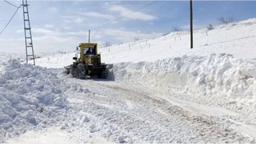
[(66, 67), (67, 74), (71, 73), (79, 79), (91, 78), (94, 75), (98, 78), (107, 78), (109, 69), (113, 68), (113, 64), (101, 63), (97, 43), (80, 43), (73, 59), (75, 62)]

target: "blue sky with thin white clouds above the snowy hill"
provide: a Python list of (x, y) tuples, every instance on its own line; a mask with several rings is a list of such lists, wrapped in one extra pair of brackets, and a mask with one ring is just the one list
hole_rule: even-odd
[[(21, 1), (10, 1), (19, 5)], [(29, 1), (32, 35), (36, 52), (72, 51), (87, 41), (101, 45), (105, 41), (121, 43), (134, 37), (152, 38), (172, 31), (187, 30), (188, 1)], [(148, 3), (152, 3), (149, 6)], [(133, 10), (142, 8), (134, 13)], [(0, 29), (13, 15), (15, 8), (0, 1)], [(219, 24), (217, 17), (245, 20), (256, 17), (256, 1), (193, 1), (195, 29)], [(123, 17), (120, 19), (120, 17)], [(118, 19), (118, 20), (117, 20)], [(115, 21), (117, 20), (117, 21)], [(113, 22), (115, 21), (115, 22)], [(112, 23), (108, 23), (112, 22)], [(105, 24), (108, 23), (108, 24)], [(102, 24), (105, 24), (101, 27)], [(23, 52), (24, 30), (22, 8), (0, 35), (1, 51)]]

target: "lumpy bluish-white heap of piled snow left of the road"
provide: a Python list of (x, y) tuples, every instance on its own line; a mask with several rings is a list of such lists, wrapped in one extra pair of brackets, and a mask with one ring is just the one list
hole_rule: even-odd
[(54, 69), (18, 60), (6, 64), (0, 74), (0, 142), (6, 134), (23, 133), (67, 106), (63, 95), (67, 87), (57, 75)]

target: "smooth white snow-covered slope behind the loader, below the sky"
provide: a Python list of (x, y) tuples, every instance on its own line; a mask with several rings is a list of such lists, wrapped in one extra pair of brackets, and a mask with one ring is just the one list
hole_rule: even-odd
[[(194, 31), (194, 48), (192, 50), (190, 49), (190, 33), (178, 31), (159, 38), (101, 48), (99, 51), (102, 55), (102, 61), (105, 63), (154, 62), (169, 57), (210, 55), (211, 53), (227, 53), (235, 58), (255, 58), (255, 34), (256, 18), (253, 18), (231, 24), (222, 24), (212, 30), (205, 28)], [(37, 64), (50, 68), (63, 68), (63, 66), (72, 64), (72, 57), (74, 56), (75, 53), (73, 52), (44, 57), (37, 59)]]

